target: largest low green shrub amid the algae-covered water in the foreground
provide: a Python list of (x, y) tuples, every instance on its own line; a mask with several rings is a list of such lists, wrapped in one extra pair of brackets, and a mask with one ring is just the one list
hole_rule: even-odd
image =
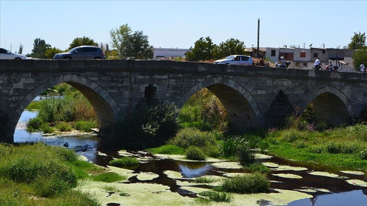
[(270, 182), (265, 174), (254, 173), (225, 179), (218, 190), (240, 194), (250, 194), (268, 192), (269, 186)]

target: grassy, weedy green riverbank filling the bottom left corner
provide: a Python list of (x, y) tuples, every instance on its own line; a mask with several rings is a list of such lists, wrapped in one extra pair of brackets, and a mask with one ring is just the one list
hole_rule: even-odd
[(0, 143), (0, 156), (0, 205), (101, 205), (74, 188), (78, 180), (102, 169), (79, 161), (71, 150), (44, 143)]

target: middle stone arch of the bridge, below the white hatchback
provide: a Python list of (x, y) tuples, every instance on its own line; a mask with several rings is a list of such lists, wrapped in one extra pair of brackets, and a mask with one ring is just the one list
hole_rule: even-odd
[(264, 127), (261, 110), (251, 93), (236, 81), (226, 77), (210, 77), (196, 84), (181, 96), (178, 108), (203, 88), (208, 88), (223, 103), (228, 113), (229, 129)]

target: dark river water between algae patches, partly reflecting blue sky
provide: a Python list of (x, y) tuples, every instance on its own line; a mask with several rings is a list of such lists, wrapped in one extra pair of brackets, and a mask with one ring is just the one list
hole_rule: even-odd
[[(87, 157), (88, 161), (94, 162), (101, 166), (112, 160), (114, 157), (119, 157), (117, 151), (111, 150), (108, 147), (103, 146), (101, 139), (98, 136), (93, 135), (71, 135), (71, 136), (43, 136), (39, 132), (29, 133), (25, 130), (26, 122), (30, 118), (36, 117), (37, 113), (32, 111), (23, 111), (21, 118), (19, 119), (17, 128), (14, 133), (15, 142), (26, 141), (43, 141), (48, 145), (62, 147), (65, 142), (69, 143), (70, 149), (76, 150), (77, 154)], [(90, 147), (87, 151), (80, 151), (77, 148), (88, 144)], [(107, 154), (106, 155), (102, 155)], [(328, 191), (316, 191), (306, 192), (313, 196), (313, 198), (301, 199), (289, 203), (289, 206), (367, 206), (367, 187), (360, 187), (357, 185), (349, 184), (345, 179), (363, 180), (367, 182), (367, 176), (346, 174), (340, 172), (341, 170), (350, 170), (345, 168), (333, 168), (327, 166), (317, 166), (311, 163), (300, 163), (294, 161), (288, 161), (280, 158), (266, 159), (266, 162), (276, 163), (278, 165), (288, 165), (294, 167), (304, 167), (307, 170), (303, 171), (277, 171), (272, 170), (269, 178), (272, 181), (271, 188), (283, 189), (283, 190), (297, 190), (297, 189), (315, 189), (322, 188)], [(170, 187), (172, 192), (178, 192), (183, 196), (195, 196), (192, 192), (182, 190), (176, 181), (167, 177), (163, 173), (164, 170), (172, 170), (180, 172), (186, 178), (199, 177), (203, 175), (217, 175), (221, 176), (224, 172), (240, 172), (245, 173), (242, 169), (220, 169), (214, 168), (207, 162), (182, 162), (168, 159), (155, 159), (132, 169), (135, 172), (153, 172), (159, 175), (158, 178), (148, 181), (140, 181), (135, 176), (131, 177), (130, 183), (146, 182), (163, 184)], [(312, 175), (309, 172), (320, 171), (337, 174), (339, 177), (326, 177), (319, 175)], [(366, 170), (364, 171), (367, 172)], [(288, 173), (301, 176), (301, 179), (289, 179), (274, 174)], [(259, 203), (260, 205), (269, 205), (269, 203)]]

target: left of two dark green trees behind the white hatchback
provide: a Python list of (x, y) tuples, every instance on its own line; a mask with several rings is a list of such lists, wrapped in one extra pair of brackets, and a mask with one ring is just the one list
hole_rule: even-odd
[(210, 60), (214, 59), (214, 54), (217, 51), (217, 45), (215, 45), (210, 37), (199, 38), (199, 40), (195, 41), (194, 48), (190, 47), (192, 51), (186, 52), (186, 60), (187, 61), (199, 61), (199, 60)]

